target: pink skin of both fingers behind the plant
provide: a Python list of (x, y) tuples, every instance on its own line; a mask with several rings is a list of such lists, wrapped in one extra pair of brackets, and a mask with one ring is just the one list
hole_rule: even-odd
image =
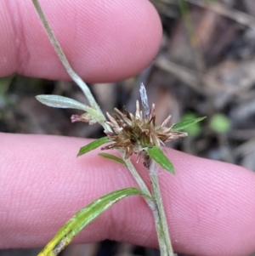
[[(71, 65), (88, 82), (130, 77), (150, 63), (161, 40), (145, 0), (41, 0)], [(0, 76), (14, 72), (68, 79), (31, 1), (0, 2)], [(123, 33), (123, 31), (125, 31)], [(0, 134), (0, 247), (41, 247), (66, 220), (105, 193), (136, 186), (126, 168), (98, 156), (77, 158), (88, 139)], [(255, 251), (255, 174), (229, 163), (168, 150), (176, 175), (159, 179), (176, 252), (248, 255)], [(146, 170), (137, 165), (148, 184)], [(153, 218), (131, 196), (96, 219), (76, 242), (103, 239), (157, 247)]]

